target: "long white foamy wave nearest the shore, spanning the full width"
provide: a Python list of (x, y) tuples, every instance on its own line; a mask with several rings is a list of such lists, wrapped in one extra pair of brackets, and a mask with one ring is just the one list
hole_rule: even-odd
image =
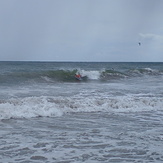
[(162, 110), (156, 97), (25, 97), (0, 101), (0, 119), (56, 117), (71, 112), (140, 112)]

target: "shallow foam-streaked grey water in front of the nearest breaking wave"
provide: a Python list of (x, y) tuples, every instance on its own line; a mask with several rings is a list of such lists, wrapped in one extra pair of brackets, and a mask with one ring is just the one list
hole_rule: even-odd
[(3, 162), (162, 162), (163, 112), (1, 121)]

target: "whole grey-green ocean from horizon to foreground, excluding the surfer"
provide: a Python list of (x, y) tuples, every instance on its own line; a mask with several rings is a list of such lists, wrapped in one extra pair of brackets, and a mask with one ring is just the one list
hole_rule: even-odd
[(163, 162), (163, 63), (0, 62), (0, 163), (13, 162)]

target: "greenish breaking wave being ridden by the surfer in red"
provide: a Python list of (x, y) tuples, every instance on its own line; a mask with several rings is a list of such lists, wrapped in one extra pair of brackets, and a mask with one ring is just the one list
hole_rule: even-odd
[(154, 70), (151, 68), (132, 69), (126, 72), (116, 70), (51, 70), (39, 72), (12, 72), (0, 74), (1, 83), (20, 83), (20, 82), (76, 82), (75, 74), (79, 72), (82, 76), (82, 81), (108, 81), (118, 80), (122, 78), (144, 76), (144, 75), (163, 75), (163, 71)]

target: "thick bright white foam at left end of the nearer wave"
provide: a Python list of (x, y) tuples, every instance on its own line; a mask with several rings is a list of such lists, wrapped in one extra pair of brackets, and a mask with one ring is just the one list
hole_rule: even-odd
[(61, 110), (49, 103), (45, 97), (26, 97), (0, 103), (1, 119), (61, 115)]

